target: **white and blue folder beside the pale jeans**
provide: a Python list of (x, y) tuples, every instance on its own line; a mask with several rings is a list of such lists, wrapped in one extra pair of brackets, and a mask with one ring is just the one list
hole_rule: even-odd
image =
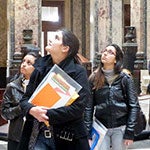
[(92, 126), (92, 142), (90, 144), (90, 150), (100, 149), (100, 145), (104, 139), (106, 132), (107, 128), (97, 119), (94, 119)]

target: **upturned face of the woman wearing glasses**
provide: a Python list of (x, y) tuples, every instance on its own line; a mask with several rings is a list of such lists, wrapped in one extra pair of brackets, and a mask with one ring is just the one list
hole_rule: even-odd
[(104, 67), (114, 67), (114, 64), (116, 63), (116, 49), (113, 46), (107, 46), (101, 51), (101, 62)]

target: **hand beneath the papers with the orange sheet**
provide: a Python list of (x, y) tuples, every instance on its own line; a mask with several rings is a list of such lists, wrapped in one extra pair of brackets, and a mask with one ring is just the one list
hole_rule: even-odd
[(47, 109), (47, 107), (35, 106), (30, 109), (29, 114), (35, 117), (39, 122), (45, 122), (49, 120), (46, 115)]

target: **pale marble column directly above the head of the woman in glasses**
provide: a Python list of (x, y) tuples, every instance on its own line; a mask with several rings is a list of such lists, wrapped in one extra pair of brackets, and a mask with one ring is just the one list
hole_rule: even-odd
[(122, 1), (99, 0), (98, 8), (98, 39), (99, 50), (109, 43), (122, 46), (123, 18)]

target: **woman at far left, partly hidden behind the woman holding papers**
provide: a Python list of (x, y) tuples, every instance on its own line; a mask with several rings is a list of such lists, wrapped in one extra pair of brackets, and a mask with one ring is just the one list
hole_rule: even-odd
[(34, 70), (33, 64), (37, 57), (38, 54), (33, 52), (25, 55), (20, 66), (20, 75), (7, 84), (3, 95), (2, 117), (10, 121), (8, 150), (16, 150), (20, 141), (24, 120), (19, 102), (26, 90), (31, 73)]

